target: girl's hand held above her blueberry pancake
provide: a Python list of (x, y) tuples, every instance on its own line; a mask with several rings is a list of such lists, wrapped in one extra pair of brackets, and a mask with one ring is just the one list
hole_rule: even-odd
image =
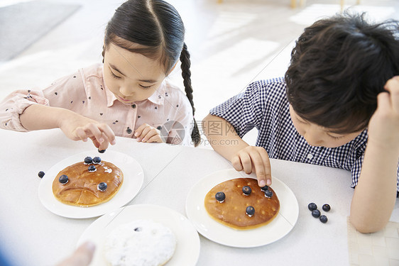
[(109, 143), (116, 143), (114, 131), (106, 123), (98, 123), (91, 118), (70, 113), (67, 118), (61, 119), (60, 129), (71, 140), (87, 141), (91, 139), (99, 150), (106, 150)]

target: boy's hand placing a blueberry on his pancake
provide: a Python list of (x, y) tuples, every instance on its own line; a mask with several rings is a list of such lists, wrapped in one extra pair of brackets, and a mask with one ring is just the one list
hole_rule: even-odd
[(270, 186), (270, 160), (264, 148), (247, 146), (239, 150), (239, 152), (231, 158), (231, 164), (237, 171), (244, 170), (246, 174), (255, 172), (259, 187)]

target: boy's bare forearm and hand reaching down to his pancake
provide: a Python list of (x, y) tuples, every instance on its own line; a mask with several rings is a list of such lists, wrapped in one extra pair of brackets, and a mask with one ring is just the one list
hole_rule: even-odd
[(219, 116), (209, 114), (202, 121), (204, 134), (217, 153), (229, 160), (237, 171), (255, 172), (260, 187), (270, 185), (270, 161), (266, 150), (248, 145), (236, 131), (226, 128), (233, 126)]

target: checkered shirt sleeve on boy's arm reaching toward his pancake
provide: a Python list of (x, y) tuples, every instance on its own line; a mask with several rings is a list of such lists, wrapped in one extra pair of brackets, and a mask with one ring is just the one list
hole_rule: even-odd
[[(210, 114), (224, 118), (233, 126), (233, 128), (222, 128), (222, 132), (229, 132), (234, 129), (242, 138), (253, 127), (259, 128), (263, 117), (259, 89), (261, 89), (261, 83), (253, 82), (246, 88), (245, 92), (237, 94), (209, 111)], [(216, 129), (221, 125), (217, 125), (217, 121), (209, 121), (207, 126), (209, 127), (209, 134), (211, 134), (212, 128)], [(220, 133), (221, 131), (218, 130), (217, 132)]]

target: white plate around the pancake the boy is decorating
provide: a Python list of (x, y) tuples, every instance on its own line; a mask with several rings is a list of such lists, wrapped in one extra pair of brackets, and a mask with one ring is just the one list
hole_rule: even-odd
[(280, 200), (280, 211), (268, 225), (250, 230), (236, 230), (218, 223), (209, 216), (204, 206), (204, 198), (209, 190), (226, 180), (242, 177), (255, 178), (255, 175), (229, 169), (209, 174), (197, 182), (187, 196), (185, 208), (189, 220), (205, 238), (236, 248), (258, 247), (283, 238), (295, 226), (299, 206), (291, 189), (275, 177), (272, 177), (271, 187)]

